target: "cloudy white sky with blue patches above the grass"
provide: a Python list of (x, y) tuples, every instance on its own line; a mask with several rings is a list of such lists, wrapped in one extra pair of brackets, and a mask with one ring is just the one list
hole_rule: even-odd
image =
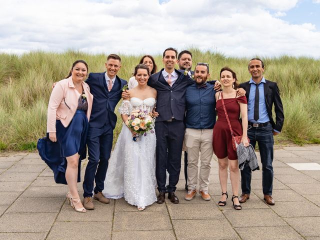
[(320, 0), (0, 0), (0, 51), (320, 56)]

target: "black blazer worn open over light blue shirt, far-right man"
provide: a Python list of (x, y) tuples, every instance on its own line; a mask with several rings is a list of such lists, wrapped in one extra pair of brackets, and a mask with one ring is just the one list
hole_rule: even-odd
[[(250, 93), (249, 81), (240, 83), (240, 87), (242, 87), (246, 91), (245, 92), (246, 99), (249, 99), (249, 93)], [(280, 98), (279, 88), (276, 82), (265, 79), (263, 90), (264, 90), (265, 106), (266, 106), (266, 110), (268, 112), (268, 116), (270, 118), (272, 127), (277, 131), (281, 131), (283, 126), (283, 121), (284, 121), (284, 114), (283, 114), (283, 106)], [(272, 118), (273, 104), (274, 104), (274, 112), (275, 112), (275, 122)]]

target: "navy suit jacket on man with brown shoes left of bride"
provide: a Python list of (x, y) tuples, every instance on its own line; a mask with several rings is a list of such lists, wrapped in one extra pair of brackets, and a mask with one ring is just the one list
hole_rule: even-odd
[(105, 72), (91, 72), (85, 81), (93, 94), (89, 126), (100, 128), (104, 124), (111, 124), (114, 129), (116, 123), (114, 108), (121, 98), (122, 87), (127, 84), (127, 81), (116, 76), (109, 92), (104, 74)]

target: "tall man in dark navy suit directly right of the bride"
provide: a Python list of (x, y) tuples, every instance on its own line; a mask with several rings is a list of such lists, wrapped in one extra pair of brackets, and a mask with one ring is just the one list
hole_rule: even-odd
[[(179, 199), (175, 195), (176, 184), (181, 168), (181, 151), (184, 136), (184, 93), (193, 83), (188, 74), (174, 69), (177, 51), (169, 47), (164, 50), (162, 61), (164, 68), (152, 74), (148, 85), (157, 90), (156, 111), (159, 116), (155, 121), (156, 168), (155, 176), (159, 194), (157, 203), (163, 203), (165, 192), (173, 203)], [(169, 184), (165, 186), (166, 170), (169, 172)]]

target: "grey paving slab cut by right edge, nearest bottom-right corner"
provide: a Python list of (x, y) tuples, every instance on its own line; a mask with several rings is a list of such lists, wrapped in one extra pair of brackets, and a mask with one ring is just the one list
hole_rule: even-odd
[(302, 219), (300, 217), (285, 217), (283, 219), (302, 236), (320, 236), (320, 216), (303, 217)]

